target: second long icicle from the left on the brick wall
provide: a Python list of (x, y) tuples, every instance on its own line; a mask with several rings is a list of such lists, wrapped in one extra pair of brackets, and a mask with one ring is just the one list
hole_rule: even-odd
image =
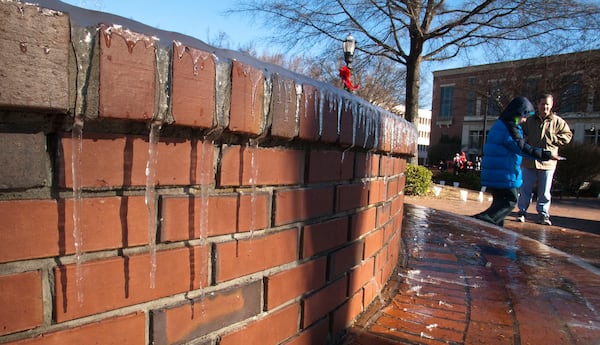
[(150, 250), (150, 288), (156, 281), (156, 165), (158, 163), (158, 140), (161, 123), (155, 121), (150, 126), (148, 138), (148, 161), (146, 163), (146, 208), (148, 209), (148, 246)]

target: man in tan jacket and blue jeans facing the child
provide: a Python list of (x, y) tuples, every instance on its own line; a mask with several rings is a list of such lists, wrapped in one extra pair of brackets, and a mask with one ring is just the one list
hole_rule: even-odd
[[(573, 133), (565, 120), (552, 112), (554, 97), (550, 93), (541, 94), (537, 101), (537, 113), (527, 118), (522, 125), (523, 135), (531, 146), (550, 150), (558, 156), (558, 148), (571, 141)], [(523, 185), (521, 186), (519, 201), (519, 214), (517, 220), (525, 222), (527, 209), (531, 203), (533, 186), (537, 182), (536, 211), (539, 215), (538, 223), (552, 225), (550, 221), (550, 189), (552, 178), (556, 169), (556, 160), (538, 161), (523, 159)]]

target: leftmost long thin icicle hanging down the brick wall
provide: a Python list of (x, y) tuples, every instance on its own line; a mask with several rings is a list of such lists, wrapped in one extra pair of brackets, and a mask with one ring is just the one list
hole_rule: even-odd
[(82, 246), (81, 234), (81, 159), (83, 154), (83, 118), (75, 117), (71, 131), (71, 175), (73, 178), (73, 243), (75, 246), (75, 286), (77, 301), (83, 304)]

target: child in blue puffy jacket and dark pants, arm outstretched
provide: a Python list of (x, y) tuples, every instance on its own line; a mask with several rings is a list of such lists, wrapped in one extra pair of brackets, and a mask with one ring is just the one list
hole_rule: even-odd
[(535, 109), (531, 102), (525, 97), (516, 97), (490, 128), (483, 147), (481, 185), (492, 194), (493, 201), (487, 210), (473, 217), (504, 226), (504, 218), (517, 204), (518, 190), (523, 184), (522, 156), (541, 161), (564, 159), (553, 155), (550, 150), (525, 142), (521, 123), (532, 114), (535, 114)]

